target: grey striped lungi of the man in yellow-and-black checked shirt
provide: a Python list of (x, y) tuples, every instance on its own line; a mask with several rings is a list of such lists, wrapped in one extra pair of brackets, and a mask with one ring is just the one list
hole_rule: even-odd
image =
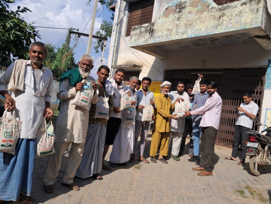
[(102, 171), (102, 154), (106, 136), (106, 125), (89, 123), (84, 152), (75, 176), (91, 177)]

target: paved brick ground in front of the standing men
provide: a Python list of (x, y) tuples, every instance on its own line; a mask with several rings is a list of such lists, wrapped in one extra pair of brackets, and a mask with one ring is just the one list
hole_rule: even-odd
[[(187, 140), (188, 141), (188, 140)], [(147, 140), (146, 156), (150, 148), (151, 137)], [(186, 146), (188, 152), (188, 146)], [(108, 152), (109, 158), (111, 149)], [(266, 199), (270, 203), (271, 197), (271, 168), (259, 177), (249, 174), (249, 163), (246, 159), (244, 166), (235, 161), (225, 160), (231, 155), (231, 149), (221, 146), (215, 147), (215, 169), (212, 177), (197, 176), (192, 171), (196, 165), (188, 162), (188, 155), (180, 157), (176, 162), (169, 159), (168, 164), (143, 162), (129, 163), (128, 166), (117, 166), (113, 171), (102, 170), (103, 180), (79, 179), (74, 182), (81, 188), (75, 192), (60, 184), (64, 174), (65, 161), (68, 152), (62, 159), (62, 168), (55, 182), (55, 192), (49, 194), (43, 190), (43, 174), (48, 157), (36, 160), (34, 170), (33, 197), (36, 203), (46, 204), (90, 204), (90, 203), (262, 203), (259, 199)], [(149, 158), (149, 156), (147, 156)], [(135, 166), (135, 165), (141, 166)], [(135, 168), (137, 167), (137, 168)], [(244, 187), (255, 189), (251, 196)], [(240, 193), (244, 191), (244, 197)], [(269, 195), (269, 193), (270, 195)], [(258, 195), (258, 193), (262, 193)], [(17, 204), (13, 202), (12, 204)]]

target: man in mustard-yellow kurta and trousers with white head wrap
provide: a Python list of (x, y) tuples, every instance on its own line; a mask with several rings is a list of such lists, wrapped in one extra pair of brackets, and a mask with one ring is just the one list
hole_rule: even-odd
[(150, 145), (150, 161), (157, 163), (155, 155), (157, 153), (160, 141), (161, 147), (158, 160), (163, 163), (168, 163), (163, 156), (168, 155), (169, 145), (169, 131), (170, 131), (170, 118), (176, 120), (177, 114), (170, 115), (170, 110), (175, 107), (175, 103), (171, 104), (171, 99), (168, 95), (171, 83), (164, 81), (161, 87), (161, 94), (155, 97), (155, 109), (154, 109), (154, 128)]

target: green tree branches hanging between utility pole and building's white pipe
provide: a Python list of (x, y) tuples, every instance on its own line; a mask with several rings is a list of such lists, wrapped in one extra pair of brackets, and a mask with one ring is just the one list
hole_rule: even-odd
[[(90, 4), (92, 0), (88, 0), (87, 5)], [(113, 20), (114, 20), (114, 12), (109, 9), (110, 6), (116, 4), (116, 0), (99, 0), (99, 3), (102, 4), (102, 6), (105, 6), (108, 11), (111, 13), (110, 20), (102, 20), (102, 24), (100, 26), (100, 29), (95, 33), (96, 36), (99, 37), (111, 37), (112, 34), (112, 27), (113, 27)], [(99, 52), (99, 49), (102, 51), (103, 49), (103, 40), (97, 39), (97, 45), (94, 47), (95, 52)]]

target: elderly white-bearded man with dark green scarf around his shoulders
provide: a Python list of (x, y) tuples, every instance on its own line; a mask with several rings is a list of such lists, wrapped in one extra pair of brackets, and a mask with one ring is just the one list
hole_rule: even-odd
[(97, 85), (95, 79), (91, 76), (90, 70), (93, 68), (93, 59), (87, 54), (82, 55), (79, 68), (68, 70), (60, 77), (60, 85), (57, 98), (62, 100), (59, 115), (55, 122), (55, 153), (48, 162), (48, 167), (44, 176), (44, 190), (47, 193), (53, 193), (55, 178), (60, 169), (61, 157), (71, 144), (67, 167), (61, 184), (74, 191), (80, 188), (74, 184), (73, 179), (78, 168), (84, 150), (88, 129), (88, 109), (71, 104), (76, 93), (83, 87), (82, 80), (93, 81), (92, 87), (94, 95), (91, 103), (98, 101), (96, 94)]

